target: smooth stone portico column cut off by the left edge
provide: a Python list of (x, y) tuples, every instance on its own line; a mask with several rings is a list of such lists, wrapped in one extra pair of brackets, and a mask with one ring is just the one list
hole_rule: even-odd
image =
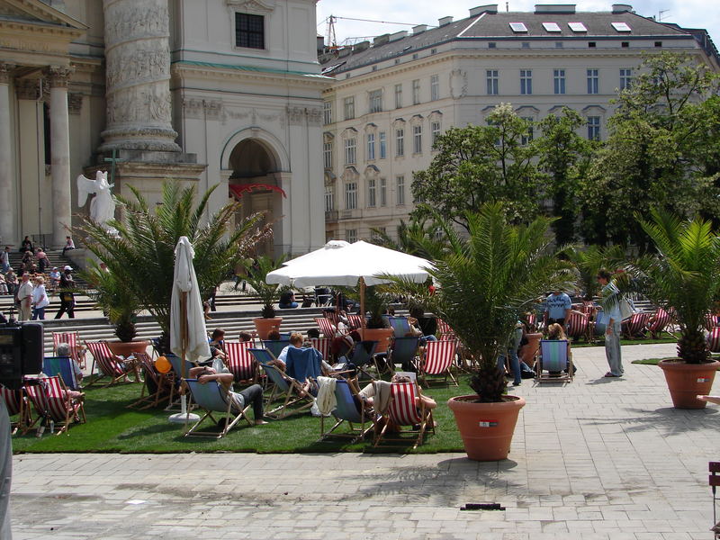
[(18, 241), (15, 231), (13, 197), (13, 159), (10, 132), (10, 77), (14, 66), (0, 64), (0, 240), (4, 244)]

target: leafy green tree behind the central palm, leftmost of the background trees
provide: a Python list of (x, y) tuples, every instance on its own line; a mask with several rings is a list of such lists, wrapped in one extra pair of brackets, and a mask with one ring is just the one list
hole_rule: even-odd
[(437, 139), (437, 156), (414, 174), (412, 193), (418, 207), (412, 217), (437, 210), (469, 229), (468, 211), (498, 202), (512, 222), (532, 219), (538, 211), (534, 147), (523, 143), (530, 123), (509, 103), (488, 115), (487, 126), (450, 128)]

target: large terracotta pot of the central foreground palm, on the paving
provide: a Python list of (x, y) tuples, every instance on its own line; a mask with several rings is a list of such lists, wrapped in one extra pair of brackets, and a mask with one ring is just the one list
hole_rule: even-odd
[(476, 395), (457, 396), (447, 401), (463, 437), (465, 453), (475, 461), (507, 459), (510, 443), (525, 400), (505, 396), (500, 403), (473, 403)]

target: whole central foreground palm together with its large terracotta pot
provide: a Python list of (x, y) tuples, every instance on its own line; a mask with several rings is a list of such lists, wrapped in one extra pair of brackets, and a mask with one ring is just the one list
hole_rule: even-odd
[(437, 284), (427, 287), (392, 278), (405, 293), (442, 317), (480, 365), (470, 386), (474, 394), (452, 398), (465, 452), (479, 461), (508, 457), (513, 430), (525, 400), (505, 395), (498, 356), (505, 352), (520, 313), (547, 289), (572, 284), (569, 266), (554, 256), (547, 230), (552, 220), (509, 225), (500, 204), (487, 203), (467, 214), (469, 237), (437, 217), (446, 234), (446, 252), (428, 271)]

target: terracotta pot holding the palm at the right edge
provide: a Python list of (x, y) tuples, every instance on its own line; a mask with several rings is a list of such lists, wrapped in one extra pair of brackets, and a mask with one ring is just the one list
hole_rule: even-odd
[(705, 409), (707, 401), (696, 396), (710, 393), (720, 362), (687, 364), (684, 360), (661, 360), (658, 365), (665, 374), (672, 405), (676, 409)]

